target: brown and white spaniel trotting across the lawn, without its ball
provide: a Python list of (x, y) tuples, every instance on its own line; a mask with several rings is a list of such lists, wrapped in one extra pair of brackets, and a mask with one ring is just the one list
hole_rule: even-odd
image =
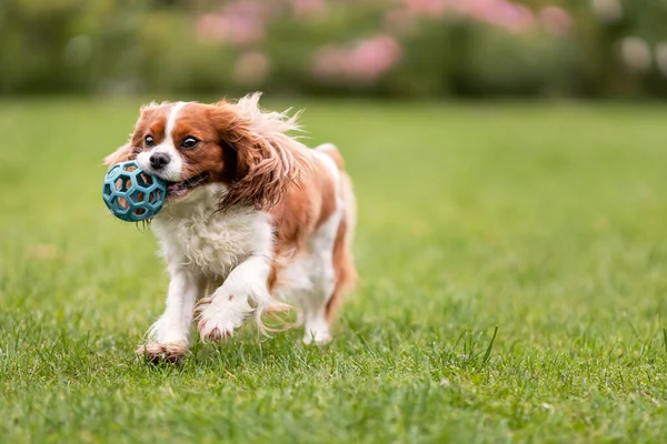
[(357, 280), (342, 157), (330, 143), (306, 148), (290, 135), (299, 113), (265, 111), (259, 98), (150, 103), (129, 142), (104, 159), (133, 159), (168, 184), (150, 221), (170, 282), (137, 350), (149, 361), (181, 361), (193, 321), (202, 342), (220, 342), (246, 320), (265, 329), (265, 314), (289, 307), (303, 342), (325, 344)]

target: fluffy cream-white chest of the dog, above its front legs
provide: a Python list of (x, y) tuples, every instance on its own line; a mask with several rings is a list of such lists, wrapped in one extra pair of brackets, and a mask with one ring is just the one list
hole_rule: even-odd
[(195, 268), (206, 275), (226, 278), (235, 266), (256, 254), (271, 236), (266, 213), (249, 211), (189, 214), (153, 222), (168, 262)]

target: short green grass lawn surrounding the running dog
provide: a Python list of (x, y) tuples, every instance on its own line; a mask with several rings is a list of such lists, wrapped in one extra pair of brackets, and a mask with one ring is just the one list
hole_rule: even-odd
[(0, 442), (664, 442), (665, 108), (297, 103), (360, 202), (335, 341), (153, 367), (167, 275), (100, 195), (139, 104), (0, 104)]

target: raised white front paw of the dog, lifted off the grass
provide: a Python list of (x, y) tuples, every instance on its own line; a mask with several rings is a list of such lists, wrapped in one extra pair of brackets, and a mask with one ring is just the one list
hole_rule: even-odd
[(243, 319), (233, 310), (218, 306), (213, 297), (203, 297), (195, 306), (195, 319), (201, 342), (227, 341), (235, 329), (241, 326)]

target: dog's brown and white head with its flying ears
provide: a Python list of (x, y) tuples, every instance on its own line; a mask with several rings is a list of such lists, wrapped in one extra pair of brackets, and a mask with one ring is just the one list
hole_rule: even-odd
[(168, 204), (216, 183), (223, 190), (221, 209), (268, 209), (308, 164), (303, 145), (288, 135), (298, 130), (296, 115), (262, 111), (259, 97), (237, 103), (146, 105), (130, 141), (104, 163), (136, 159), (145, 171), (168, 182)]

